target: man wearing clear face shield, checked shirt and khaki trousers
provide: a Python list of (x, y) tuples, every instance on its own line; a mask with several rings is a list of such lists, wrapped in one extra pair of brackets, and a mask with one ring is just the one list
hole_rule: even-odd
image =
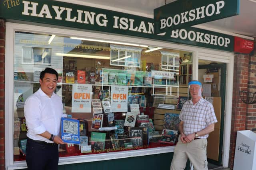
[(180, 112), (180, 137), (170, 170), (184, 170), (188, 158), (195, 170), (208, 170), (207, 137), (214, 131), (217, 119), (212, 104), (202, 98), (202, 84), (192, 80), (188, 87), (192, 99), (183, 105)]

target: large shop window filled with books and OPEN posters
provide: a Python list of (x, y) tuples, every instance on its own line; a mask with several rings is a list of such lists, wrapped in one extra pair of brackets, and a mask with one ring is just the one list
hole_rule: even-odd
[[(14, 161), (25, 160), (24, 102), (40, 88), (40, 72), (46, 67), (58, 72), (55, 93), (62, 97), (68, 117), (63, 119), (67, 134), (62, 138), (73, 141), (60, 145), (60, 157), (175, 145), (178, 131), (170, 127), (178, 124), (174, 114), (180, 112), (179, 97), (189, 95), (191, 52), (146, 52), (146, 46), (58, 35), (48, 43), (51, 37), (15, 33)], [(174, 109), (160, 109), (159, 104)]]

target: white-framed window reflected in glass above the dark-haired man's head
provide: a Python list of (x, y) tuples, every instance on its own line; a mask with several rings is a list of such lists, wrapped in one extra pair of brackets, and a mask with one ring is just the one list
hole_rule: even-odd
[(51, 64), (52, 49), (40, 47), (22, 47), (22, 63)]

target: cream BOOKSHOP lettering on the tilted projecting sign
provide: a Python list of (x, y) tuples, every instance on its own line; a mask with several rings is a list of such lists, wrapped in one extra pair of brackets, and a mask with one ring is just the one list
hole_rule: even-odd
[(171, 27), (173, 24), (178, 25), (194, 20), (199, 20), (202, 18), (218, 15), (221, 13), (221, 9), (225, 6), (223, 0), (216, 2), (215, 4), (208, 4), (207, 6), (201, 6), (190, 11), (182, 12), (181, 14), (176, 14), (175, 16), (169, 16), (160, 20), (160, 29), (165, 27)]

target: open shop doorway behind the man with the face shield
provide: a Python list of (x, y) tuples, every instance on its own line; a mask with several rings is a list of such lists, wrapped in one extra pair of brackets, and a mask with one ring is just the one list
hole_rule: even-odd
[[(205, 78), (204, 78), (205, 77)], [(222, 166), (224, 132), (224, 110), (226, 94), (226, 64), (212, 61), (198, 61), (198, 80), (203, 84), (203, 96), (212, 102), (218, 119), (214, 131), (208, 137), (208, 169)]]

